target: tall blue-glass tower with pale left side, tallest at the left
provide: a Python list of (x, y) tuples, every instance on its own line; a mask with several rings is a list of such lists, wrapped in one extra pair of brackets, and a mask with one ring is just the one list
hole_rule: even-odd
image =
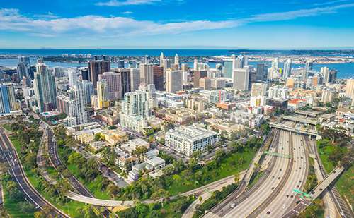
[(35, 89), (35, 99), (38, 102), (38, 109), (40, 113), (52, 111), (52, 109), (56, 108), (55, 97), (57, 97), (55, 76), (49, 72), (48, 66), (44, 63), (36, 64), (35, 68), (33, 87)]

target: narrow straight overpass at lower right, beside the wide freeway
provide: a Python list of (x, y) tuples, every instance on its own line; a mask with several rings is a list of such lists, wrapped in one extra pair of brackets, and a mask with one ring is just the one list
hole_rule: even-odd
[[(331, 173), (324, 178), (312, 191), (309, 193), (309, 198), (304, 198), (301, 202), (299, 202), (295, 207), (292, 209), (288, 210), (286, 214), (283, 214), (282, 217), (294, 217), (295, 215), (299, 214), (299, 212), (306, 210), (306, 208), (312, 204), (311, 200), (315, 200), (316, 198), (319, 198), (319, 195), (323, 193), (327, 187), (333, 183), (333, 181), (336, 181), (336, 178), (338, 178), (341, 174), (343, 173), (343, 168), (341, 166), (337, 166)], [(341, 217), (346, 217), (346, 215), (342, 215)], [(350, 217), (348, 217), (350, 218)]]

